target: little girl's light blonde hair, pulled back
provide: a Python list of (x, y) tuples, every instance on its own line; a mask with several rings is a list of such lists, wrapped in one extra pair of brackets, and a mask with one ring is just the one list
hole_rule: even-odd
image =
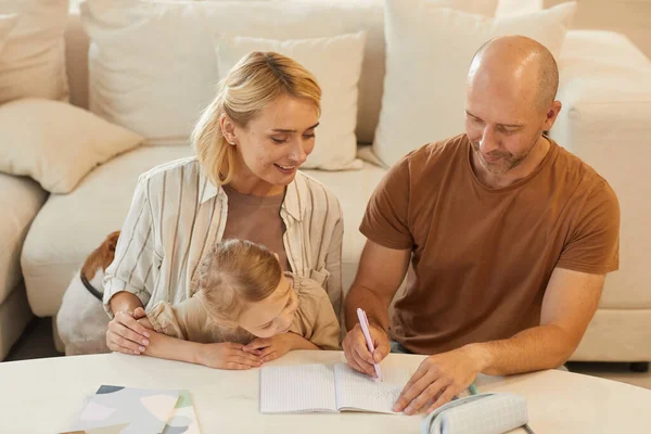
[(246, 240), (227, 240), (204, 256), (194, 285), (213, 321), (237, 327), (246, 304), (271, 295), (281, 277), (280, 264), (267, 247)]

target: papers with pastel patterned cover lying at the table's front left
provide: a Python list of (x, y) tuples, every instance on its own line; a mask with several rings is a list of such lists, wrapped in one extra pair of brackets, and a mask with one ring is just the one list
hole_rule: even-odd
[(201, 434), (188, 391), (102, 385), (69, 433)]

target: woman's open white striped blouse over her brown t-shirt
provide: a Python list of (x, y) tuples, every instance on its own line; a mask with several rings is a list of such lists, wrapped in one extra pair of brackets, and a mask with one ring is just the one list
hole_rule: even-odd
[[(280, 215), (292, 272), (318, 282), (341, 318), (344, 225), (339, 200), (299, 171), (286, 188)], [(227, 216), (226, 192), (208, 180), (194, 156), (141, 175), (104, 278), (108, 315), (111, 297), (122, 291), (136, 294), (145, 310), (191, 297), (192, 277), (206, 246), (221, 240)]]

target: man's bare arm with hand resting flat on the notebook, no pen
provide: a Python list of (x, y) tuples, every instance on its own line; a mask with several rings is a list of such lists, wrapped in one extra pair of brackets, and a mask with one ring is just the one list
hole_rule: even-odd
[(468, 344), (427, 357), (394, 410), (408, 414), (433, 411), (470, 386), (480, 372), (508, 375), (563, 365), (597, 310), (604, 275), (556, 268), (542, 299), (540, 326), (510, 339)]

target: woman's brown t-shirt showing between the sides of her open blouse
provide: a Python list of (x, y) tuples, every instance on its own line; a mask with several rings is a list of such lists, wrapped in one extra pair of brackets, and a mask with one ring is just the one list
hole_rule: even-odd
[(248, 240), (261, 244), (278, 254), (283, 271), (290, 271), (283, 244), (285, 227), (280, 217), (284, 193), (254, 196), (240, 193), (228, 186), (224, 186), (224, 191), (228, 196), (228, 213), (221, 239)]

